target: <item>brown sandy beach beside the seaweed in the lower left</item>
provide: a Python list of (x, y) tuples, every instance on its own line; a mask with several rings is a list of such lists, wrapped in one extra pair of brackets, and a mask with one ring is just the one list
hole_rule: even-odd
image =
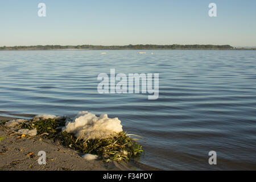
[[(0, 120), (15, 119), (0, 116)], [(118, 162), (104, 163), (101, 160), (86, 160), (81, 153), (60, 144), (36, 137), (18, 137), (13, 135), (15, 128), (0, 127), (0, 171), (105, 171), (129, 170), (126, 164)], [(46, 165), (38, 163), (38, 152), (46, 152)]]

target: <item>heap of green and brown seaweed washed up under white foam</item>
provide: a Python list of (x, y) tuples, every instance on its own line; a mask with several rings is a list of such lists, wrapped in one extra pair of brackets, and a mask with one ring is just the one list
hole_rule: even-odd
[[(3, 123), (6, 123), (6, 121), (1, 124), (3, 125)], [(132, 134), (120, 132), (106, 139), (84, 140), (76, 138), (73, 133), (61, 131), (64, 126), (65, 118), (33, 118), (19, 124), (22, 129), (33, 130), (36, 128), (37, 135), (53, 140), (64, 147), (72, 148), (84, 154), (98, 155), (98, 158), (105, 162), (139, 159), (144, 154), (142, 146), (135, 142), (137, 139), (130, 137)], [(138, 135), (134, 136), (139, 137)]]

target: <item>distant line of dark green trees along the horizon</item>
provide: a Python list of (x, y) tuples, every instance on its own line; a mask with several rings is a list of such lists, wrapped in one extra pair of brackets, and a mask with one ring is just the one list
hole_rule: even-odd
[(234, 49), (229, 45), (214, 46), (214, 45), (153, 45), (153, 44), (138, 44), (127, 46), (60, 46), (60, 45), (47, 45), (47, 46), (13, 46), (13, 47), (0, 47), (0, 50), (52, 50), (52, 49)]

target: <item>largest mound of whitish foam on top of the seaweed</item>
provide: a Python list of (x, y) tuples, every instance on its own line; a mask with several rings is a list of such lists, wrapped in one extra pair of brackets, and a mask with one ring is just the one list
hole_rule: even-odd
[(73, 121), (66, 122), (62, 130), (84, 140), (106, 139), (123, 131), (118, 118), (108, 118), (107, 114), (97, 117), (88, 111), (79, 112)]

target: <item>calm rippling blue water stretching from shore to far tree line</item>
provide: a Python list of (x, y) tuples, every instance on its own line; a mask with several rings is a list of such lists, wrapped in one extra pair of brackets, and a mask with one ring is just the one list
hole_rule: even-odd
[[(105, 55), (101, 52), (107, 52)], [(160, 169), (256, 169), (256, 51), (0, 51), (0, 110), (118, 117)], [(154, 55), (151, 55), (154, 52)], [(98, 94), (99, 73), (159, 73), (159, 98)], [(208, 152), (217, 152), (217, 165)]]

